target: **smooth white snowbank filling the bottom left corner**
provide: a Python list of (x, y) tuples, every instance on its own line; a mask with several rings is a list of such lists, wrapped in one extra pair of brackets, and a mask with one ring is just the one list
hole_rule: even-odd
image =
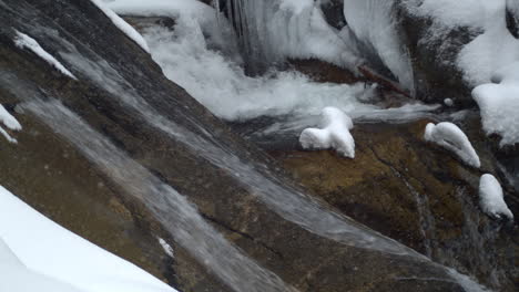
[(0, 291), (175, 291), (52, 222), (1, 186), (0, 259), (0, 270), (12, 275), (0, 273)]

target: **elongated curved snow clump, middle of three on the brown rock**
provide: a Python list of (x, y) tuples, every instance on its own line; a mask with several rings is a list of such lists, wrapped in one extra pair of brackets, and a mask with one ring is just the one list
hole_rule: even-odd
[(455, 124), (442, 122), (426, 126), (424, 138), (455, 153), (464, 163), (479, 168), (479, 156), (470, 144), (467, 135)]

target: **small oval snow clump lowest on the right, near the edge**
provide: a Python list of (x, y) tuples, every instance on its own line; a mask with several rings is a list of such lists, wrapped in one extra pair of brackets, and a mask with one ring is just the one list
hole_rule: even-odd
[(492, 175), (481, 176), (479, 181), (479, 204), (481, 209), (493, 218), (508, 218), (513, 220), (513, 213), (508, 209), (505, 202), (502, 188), (499, 181)]

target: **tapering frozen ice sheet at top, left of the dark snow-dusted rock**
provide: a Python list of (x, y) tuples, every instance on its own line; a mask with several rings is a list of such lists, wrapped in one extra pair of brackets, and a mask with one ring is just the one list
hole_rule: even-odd
[(394, 0), (344, 0), (344, 15), (368, 51), (380, 59), (405, 88), (414, 92), (411, 62), (400, 43), (393, 7)]

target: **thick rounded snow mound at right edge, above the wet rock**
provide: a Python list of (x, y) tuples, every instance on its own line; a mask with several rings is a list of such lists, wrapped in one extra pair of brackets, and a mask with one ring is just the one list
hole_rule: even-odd
[(500, 146), (519, 143), (519, 62), (498, 70), (491, 77), (499, 84), (482, 84), (472, 91), (481, 111), (487, 135), (501, 136)]

